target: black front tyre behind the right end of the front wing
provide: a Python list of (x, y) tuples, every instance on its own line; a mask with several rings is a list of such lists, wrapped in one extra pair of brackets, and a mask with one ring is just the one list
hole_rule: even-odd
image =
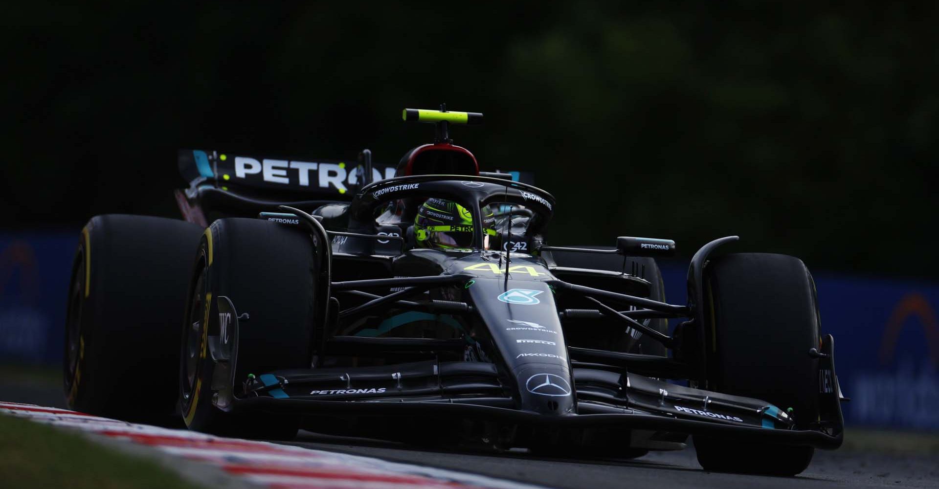
[[(819, 417), (819, 313), (815, 283), (798, 258), (736, 253), (704, 270), (708, 389), (768, 401), (808, 429)], [(790, 408), (792, 408), (790, 410)], [(705, 470), (792, 476), (806, 469), (814, 449), (727, 443), (694, 437)]]

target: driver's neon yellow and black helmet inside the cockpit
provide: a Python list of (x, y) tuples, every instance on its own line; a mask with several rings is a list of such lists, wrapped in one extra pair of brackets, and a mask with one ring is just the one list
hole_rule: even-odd
[[(490, 249), (496, 237), (496, 218), (483, 206), (483, 247)], [(418, 248), (472, 248), (472, 212), (451, 200), (430, 198), (414, 218), (414, 240)]]

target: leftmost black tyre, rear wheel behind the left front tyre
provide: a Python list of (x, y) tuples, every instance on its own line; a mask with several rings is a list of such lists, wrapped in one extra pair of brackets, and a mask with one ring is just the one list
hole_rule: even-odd
[[(71, 268), (63, 366), (70, 408), (178, 424), (177, 325), (192, 252), (190, 222), (110, 214), (85, 225)], [(172, 377), (172, 378), (170, 378)]]

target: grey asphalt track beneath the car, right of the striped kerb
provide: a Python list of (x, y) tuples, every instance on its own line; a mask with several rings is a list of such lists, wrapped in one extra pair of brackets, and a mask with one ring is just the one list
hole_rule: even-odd
[(571, 489), (939, 487), (939, 455), (936, 454), (816, 451), (808, 470), (788, 478), (705, 472), (698, 465), (693, 449), (654, 452), (635, 460), (567, 460), (534, 456), (526, 451), (426, 451), (310, 432), (300, 432), (296, 440), (288, 443)]

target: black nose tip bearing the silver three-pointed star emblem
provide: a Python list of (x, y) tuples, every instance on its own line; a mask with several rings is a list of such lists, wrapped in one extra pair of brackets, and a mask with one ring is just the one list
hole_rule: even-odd
[(550, 363), (531, 363), (516, 374), (521, 408), (546, 415), (576, 412), (574, 386), (566, 368)]

